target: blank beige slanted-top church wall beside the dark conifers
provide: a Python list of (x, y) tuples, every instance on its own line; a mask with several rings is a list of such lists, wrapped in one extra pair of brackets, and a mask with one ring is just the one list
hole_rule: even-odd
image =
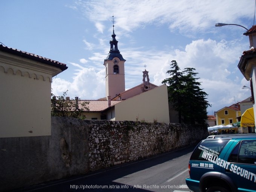
[(115, 120), (169, 123), (167, 86), (161, 85), (116, 104)]

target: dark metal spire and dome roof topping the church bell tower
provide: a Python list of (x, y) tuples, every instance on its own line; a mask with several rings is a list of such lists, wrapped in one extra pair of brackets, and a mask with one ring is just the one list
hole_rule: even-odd
[(121, 61), (126, 61), (123, 56), (120, 54), (120, 51), (117, 47), (118, 41), (116, 40), (116, 34), (114, 32), (114, 16), (112, 16), (112, 23), (113, 23), (113, 34), (111, 35), (112, 39), (109, 42), (110, 43), (110, 51), (108, 53), (108, 56), (105, 60), (112, 60), (113, 58), (117, 57)]

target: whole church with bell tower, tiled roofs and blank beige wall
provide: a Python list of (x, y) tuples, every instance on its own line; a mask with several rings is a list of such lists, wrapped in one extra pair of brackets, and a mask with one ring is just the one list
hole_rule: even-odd
[(104, 59), (106, 97), (78, 101), (89, 103), (85, 119), (169, 123), (167, 86), (150, 83), (149, 72), (145, 69), (142, 83), (125, 90), (126, 60), (118, 49), (114, 25), (111, 37), (110, 51)]

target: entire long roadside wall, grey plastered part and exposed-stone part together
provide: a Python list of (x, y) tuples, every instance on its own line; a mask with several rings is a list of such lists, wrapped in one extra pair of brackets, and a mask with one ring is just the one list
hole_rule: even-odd
[(52, 117), (52, 135), (0, 138), (0, 191), (86, 174), (197, 143), (183, 124)]

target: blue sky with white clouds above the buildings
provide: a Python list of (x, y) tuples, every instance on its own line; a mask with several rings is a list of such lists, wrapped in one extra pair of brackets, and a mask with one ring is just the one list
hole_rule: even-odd
[(194, 67), (212, 105), (208, 114), (242, 101), (249, 82), (238, 69), (249, 40), (239, 26), (254, 22), (254, 0), (10, 0), (0, 1), (0, 42), (67, 64), (53, 78), (55, 95), (105, 97), (104, 59), (110, 50), (112, 16), (125, 62), (125, 87), (168, 78), (170, 62)]

